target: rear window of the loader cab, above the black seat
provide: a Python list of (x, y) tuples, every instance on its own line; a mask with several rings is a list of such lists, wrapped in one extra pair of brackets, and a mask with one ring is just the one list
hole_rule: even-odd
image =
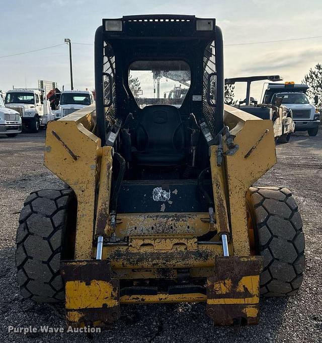
[(135, 61), (129, 67), (129, 87), (140, 108), (180, 107), (190, 87), (190, 68), (184, 61)]

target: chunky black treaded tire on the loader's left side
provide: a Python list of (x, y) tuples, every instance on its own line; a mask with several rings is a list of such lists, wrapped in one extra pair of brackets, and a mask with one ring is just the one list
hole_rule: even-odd
[(60, 256), (65, 229), (73, 223), (67, 212), (76, 214), (70, 211), (74, 202), (71, 189), (39, 190), (27, 197), (16, 237), (17, 281), (24, 298), (42, 303), (65, 299)]

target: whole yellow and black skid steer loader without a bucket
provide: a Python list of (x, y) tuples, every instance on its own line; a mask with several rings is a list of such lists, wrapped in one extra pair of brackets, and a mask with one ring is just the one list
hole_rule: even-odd
[[(183, 97), (162, 96), (170, 74), (189, 86)], [(296, 294), (296, 202), (286, 188), (253, 186), (276, 163), (272, 121), (224, 105), (223, 80), (215, 19), (103, 20), (96, 107), (47, 127), (45, 166), (69, 187), (31, 193), (21, 211), (24, 298), (65, 301), (72, 325), (163, 302), (205, 302), (230, 325), (258, 322), (260, 294)]]

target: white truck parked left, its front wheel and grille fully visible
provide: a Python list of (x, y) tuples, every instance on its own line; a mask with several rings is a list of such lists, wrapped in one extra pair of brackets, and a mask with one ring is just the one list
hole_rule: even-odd
[(40, 126), (47, 125), (52, 120), (50, 103), (41, 89), (13, 89), (5, 97), (7, 108), (19, 112), (23, 127), (32, 132), (38, 132)]

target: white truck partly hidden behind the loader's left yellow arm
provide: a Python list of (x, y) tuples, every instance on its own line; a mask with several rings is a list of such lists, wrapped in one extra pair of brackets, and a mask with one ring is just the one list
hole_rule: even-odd
[(53, 111), (55, 120), (93, 104), (95, 104), (95, 100), (92, 92), (63, 91), (60, 95), (58, 109)]

